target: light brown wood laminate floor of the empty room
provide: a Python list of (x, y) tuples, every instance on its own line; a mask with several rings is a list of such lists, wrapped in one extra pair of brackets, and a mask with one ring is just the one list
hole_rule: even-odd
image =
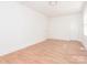
[(1, 56), (3, 64), (87, 63), (87, 52), (78, 41), (46, 40)]

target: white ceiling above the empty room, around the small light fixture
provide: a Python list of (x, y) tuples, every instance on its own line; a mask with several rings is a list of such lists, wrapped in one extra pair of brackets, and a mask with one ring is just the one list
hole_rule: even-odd
[(48, 2), (50, 1), (26, 1), (22, 3), (47, 17), (80, 12), (84, 3), (81, 1), (57, 1), (57, 6), (50, 6)]

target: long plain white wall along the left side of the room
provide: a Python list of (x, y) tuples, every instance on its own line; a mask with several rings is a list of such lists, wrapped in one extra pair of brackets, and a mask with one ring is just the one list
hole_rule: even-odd
[(46, 21), (19, 2), (0, 2), (0, 55), (44, 41)]

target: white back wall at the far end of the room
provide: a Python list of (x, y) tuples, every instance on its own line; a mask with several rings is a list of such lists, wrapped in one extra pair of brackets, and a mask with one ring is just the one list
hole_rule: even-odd
[(58, 40), (81, 40), (83, 15), (74, 13), (51, 19), (50, 37)]

